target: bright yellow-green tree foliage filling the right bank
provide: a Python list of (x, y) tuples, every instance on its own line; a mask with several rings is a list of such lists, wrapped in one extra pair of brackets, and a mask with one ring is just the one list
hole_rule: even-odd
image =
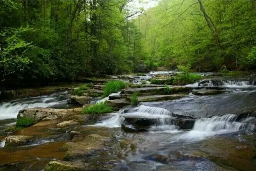
[(136, 18), (144, 33), (142, 47), (149, 69), (155, 62), (170, 69), (191, 64), (191, 69), (199, 72), (219, 71), (223, 66), (228, 70), (255, 68), (255, 3), (202, 3), (217, 34), (207, 25), (198, 1), (160, 1), (146, 16)]

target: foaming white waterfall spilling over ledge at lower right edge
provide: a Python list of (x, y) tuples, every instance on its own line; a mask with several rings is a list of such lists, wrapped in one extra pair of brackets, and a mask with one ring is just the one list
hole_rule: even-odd
[(253, 130), (255, 125), (248, 123), (254, 117), (250, 117), (246, 122), (236, 122), (237, 115), (228, 114), (222, 117), (202, 118), (196, 120), (193, 130), (204, 132), (219, 132), (219, 131), (239, 131), (243, 129)]

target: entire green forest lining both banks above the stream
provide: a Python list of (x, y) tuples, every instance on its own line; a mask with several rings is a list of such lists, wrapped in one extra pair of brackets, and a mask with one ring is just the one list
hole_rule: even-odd
[(256, 67), (256, 2), (0, 1), (2, 87), (189, 66)]

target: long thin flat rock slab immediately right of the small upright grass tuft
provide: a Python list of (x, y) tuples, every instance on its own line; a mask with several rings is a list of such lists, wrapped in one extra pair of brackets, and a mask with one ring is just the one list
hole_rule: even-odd
[[(180, 99), (182, 97), (186, 97), (186, 94), (169, 94), (169, 95), (145, 95), (139, 96), (139, 102), (153, 102), (153, 101), (164, 101), (164, 100), (175, 100)], [(131, 97), (127, 97), (127, 99), (131, 100)]]

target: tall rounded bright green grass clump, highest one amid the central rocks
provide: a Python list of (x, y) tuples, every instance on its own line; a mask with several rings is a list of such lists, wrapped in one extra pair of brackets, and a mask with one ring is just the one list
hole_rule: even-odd
[(118, 92), (126, 86), (126, 83), (123, 81), (109, 81), (105, 84), (103, 96), (107, 97), (109, 94)]

